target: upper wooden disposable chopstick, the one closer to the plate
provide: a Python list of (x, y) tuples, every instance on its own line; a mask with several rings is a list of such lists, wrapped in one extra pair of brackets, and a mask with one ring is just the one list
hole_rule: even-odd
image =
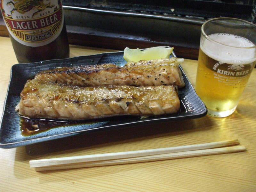
[(225, 141), (217, 141), (212, 143), (203, 143), (203, 144), (186, 145), (186, 146), (169, 147), (169, 148), (156, 148), (156, 149), (125, 151), (125, 152), (117, 152), (117, 153), (104, 153), (104, 154), (94, 154), (94, 155), (84, 155), (84, 156), (60, 157), (60, 158), (52, 158), (52, 159), (39, 159), (39, 160), (31, 160), (29, 164), (30, 164), (30, 167), (40, 167), (40, 166), (51, 166), (51, 165), (58, 165), (58, 164), (105, 161), (105, 160), (111, 160), (111, 159), (121, 159), (121, 158), (129, 158), (129, 157), (157, 155), (157, 154), (164, 154), (164, 153), (192, 151), (192, 150), (199, 150), (199, 149), (218, 148), (218, 147), (238, 145), (238, 144), (239, 144), (239, 141), (237, 139), (225, 140)]

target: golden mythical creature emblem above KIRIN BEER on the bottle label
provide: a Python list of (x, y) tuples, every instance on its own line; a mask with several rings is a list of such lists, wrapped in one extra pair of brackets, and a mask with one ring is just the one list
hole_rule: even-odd
[[(54, 5), (51, 5), (51, 2), (44, 4), (43, 0), (13, 0), (9, 1), (6, 5), (13, 5), (14, 8), (11, 10), (11, 15), (14, 11), (19, 12), (20, 14), (27, 13), (28, 11), (34, 9), (37, 10), (33, 13), (32, 18), (38, 14), (38, 12), (44, 11), (45, 8), (52, 8)], [(48, 0), (49, 1), (49, 0)]]

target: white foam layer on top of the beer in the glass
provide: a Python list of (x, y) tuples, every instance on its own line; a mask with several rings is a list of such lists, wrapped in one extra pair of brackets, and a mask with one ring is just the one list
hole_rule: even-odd
[(220, 44), (204, 39), (200, 43), (200, 48), (214, 60), (235, 65), (248, 64), (256, 60), (256, 48), (248, 48), (255, 44), (244, 37), (227, 33), (216, 33), (208, 37)]

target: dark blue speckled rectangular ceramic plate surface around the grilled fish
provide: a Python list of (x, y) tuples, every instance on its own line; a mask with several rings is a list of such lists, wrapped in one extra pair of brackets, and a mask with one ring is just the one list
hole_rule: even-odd
[[(138, 116), (104, 118), (93, 120), (91, 122), (87, 121), (86, 123), (78, 125), (56, 127), (31, 136), (21, 135), (20, 117), (15, 111), (15, 106), (20, 101), (20, 92), (22, 91), (23, 86), (28, 79), (33, 78), (36, 73), (41, 70), (47, 70), (56, 67), (95, 65), (104, 63), (114, 63), (123, 66), (126, 63), (126, 61), (123, 59), (123, 54), (123, 52), (109, 52), (62, 60), (48, 60), (37, 63), (22, 63), (13, 65), (11, 69), (11, 79), (4, 104), (4, 112), (1, 119), (0, 147), (15, 148), (23, 145), (29, 145), (46, 140), (59, 139), (81, 133), (106, 131), (136, 125), (198, 118), (206, 115), (207, 109), (204, 103), (196, 95), (194, 88), (180, 67), (186, 85), (184, 88), (179, 90), (181, 108), (180, 113), (178, 114), (154, 116), (144, 119), (140, 119)], [(175, 54), (172, 53), (172, 56), (175, 56)]]

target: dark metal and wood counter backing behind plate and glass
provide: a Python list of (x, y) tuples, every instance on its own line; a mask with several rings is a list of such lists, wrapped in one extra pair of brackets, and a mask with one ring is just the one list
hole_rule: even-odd
[[(255, 23), (255, 0), (62, 0), (70, 44), (124, 50), (159, 45), (197, 59), (201, 25), (216, 17)], [(9, 36), (0, 17), (0, 36)]]

